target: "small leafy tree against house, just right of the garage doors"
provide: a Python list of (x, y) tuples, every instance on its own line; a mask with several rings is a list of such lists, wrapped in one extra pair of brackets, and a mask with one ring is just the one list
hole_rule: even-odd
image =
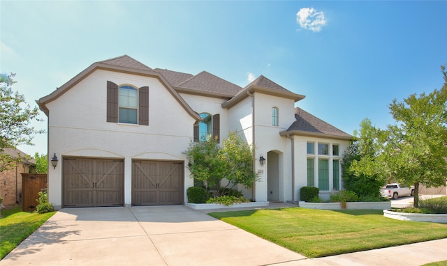
[(209, 136), (191, 143), (184, 153), (189, 159), (189, 170), (196, 185), (196, 181), (203, 182), (214, 196), (221, 196), (219, 191), (225, 191), (222, 187), (242, 184), (249, 188), (253, 185), (256, 180), (253, 150), (237, 132), (230, 132), (228, 139), (223, 140), (222, 148), (216, 139)]

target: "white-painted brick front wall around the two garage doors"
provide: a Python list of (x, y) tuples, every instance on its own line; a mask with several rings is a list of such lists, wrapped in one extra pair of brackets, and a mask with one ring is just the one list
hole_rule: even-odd
[[(149, 86), (148, 126), (106, 122), (107, 81)], [(130, 205), (132, 159), (186, 160), (182, 152), (193, 139), (196, 121), (158, 79), (105, 70), (96, 70), (47, 107), (48, 152), (59, 157), (59, 166), (48, 173), (49, 201), (55, 208), (62, 204), (62, 157), (124, 159), (124, 204)], [(193, 180), (185, 178), (185, 189), (191, 185)]]

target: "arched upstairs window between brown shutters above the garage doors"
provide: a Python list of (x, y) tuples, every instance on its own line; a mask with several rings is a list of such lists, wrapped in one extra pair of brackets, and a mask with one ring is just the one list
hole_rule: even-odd
[(132, 86), (119, 87), (119, 123), (137, 124), (138, 91)]

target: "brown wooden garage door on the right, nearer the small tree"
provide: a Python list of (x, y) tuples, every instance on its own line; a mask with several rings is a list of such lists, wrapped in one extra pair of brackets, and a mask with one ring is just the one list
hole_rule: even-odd
[(133, 161), (132, 205), (183, 204), (183, 162)]

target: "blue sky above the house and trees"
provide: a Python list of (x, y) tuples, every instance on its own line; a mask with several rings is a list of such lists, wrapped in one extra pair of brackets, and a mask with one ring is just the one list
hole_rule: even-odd
[[(33, 107), (91, 63), (127, 54), (239, 86), (264, 75), (353, 134), (364, 118), (393, 123), (394, 98), (441, 88), (447, 64), (447, 1), (0, 0), (0, 17), (0, 72), (16, 73), (13, 89)], [(46, 153), (46, 139), (19, 148)]]

